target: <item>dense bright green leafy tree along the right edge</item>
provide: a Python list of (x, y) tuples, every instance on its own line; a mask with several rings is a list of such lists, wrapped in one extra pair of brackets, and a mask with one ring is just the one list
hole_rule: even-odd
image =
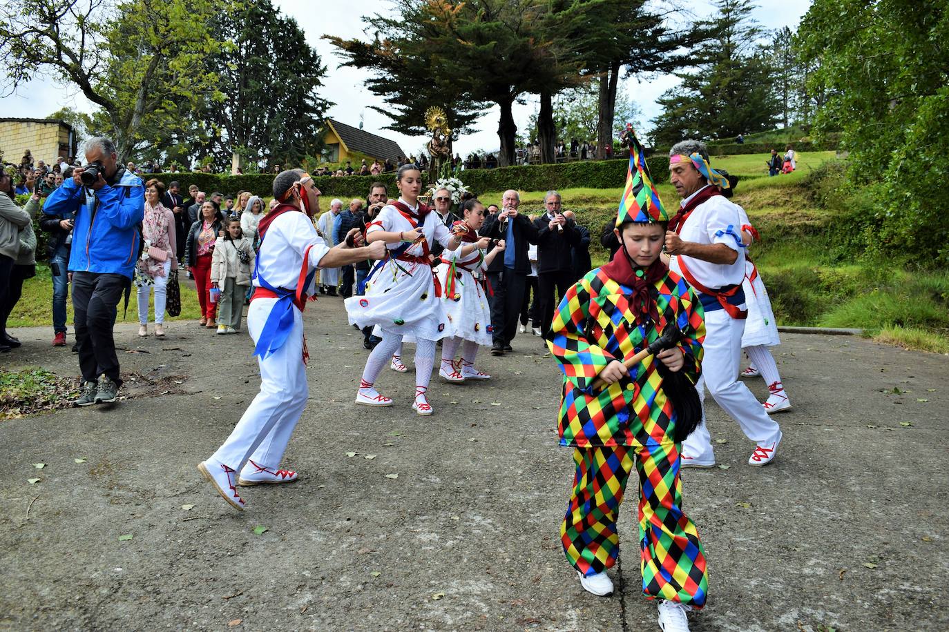
[(798, 30), (815, 134), (841, 129), (849, 177), (880, 182), (868, 245), (949, 263), (949, 7), (943, 0), (815, 0)]

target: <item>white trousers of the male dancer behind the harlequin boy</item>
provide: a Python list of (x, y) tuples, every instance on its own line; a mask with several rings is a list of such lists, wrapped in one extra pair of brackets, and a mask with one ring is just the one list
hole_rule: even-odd
[(702, 400), (702, 423), (682, 443), (682, 454), (698, 461), (714, 460), (712, 436), (705, 425), (705, 388), (718, 406), (741, 426), (745, 436), (755, 443), (777, 441), (781, 433), (752, 391), (738, 381), (741, 362), (741, 334), (745, 321), (728, 316), (725, 310), (705, 313), (705, 351), (702, 374), (698, 378), (698, 397)]

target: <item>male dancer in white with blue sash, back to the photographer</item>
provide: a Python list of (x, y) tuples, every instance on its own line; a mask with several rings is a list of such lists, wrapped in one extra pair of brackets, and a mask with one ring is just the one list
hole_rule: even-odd
[[(339, 267), (381, 259), (385, 245), (328, 248), (313, 227), (320, 210), (320, 190), (302, 170), (273, 179), (273, 198), (280, 204), (260, 221), (261, 244), (254, 271), (254, 294), (247, 325), (260, 365), (260, 392), (253, 398), (231, 436), (197, 469), (238, 510), (244, 500), (237, 485), (284, 483), (296, 472), (278, 469), (290, 434), (307, 406), (307, 343), (303, 310), (316, 293), (316, 268)], [(240, 472), (240, 478), (235, 475)]]

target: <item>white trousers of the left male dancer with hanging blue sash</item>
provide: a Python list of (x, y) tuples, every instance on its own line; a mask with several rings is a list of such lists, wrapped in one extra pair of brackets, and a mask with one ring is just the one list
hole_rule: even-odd
[[(247, 328), (254, 344), (260, 336), (276, 298), (256, 298), (247, 314)], [(293, 329), (287, 342), (260, 366), (260, 392), (234, 426), (231, 436), (214, 453), (214, 460), (238, 472), (249, 460), (277, 469), (307, 406), (307, 370), (303, 364), (303, 315), (293, 308)]]

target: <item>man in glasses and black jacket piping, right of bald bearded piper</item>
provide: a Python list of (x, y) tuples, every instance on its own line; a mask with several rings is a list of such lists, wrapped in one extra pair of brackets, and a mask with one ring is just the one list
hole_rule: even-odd
[[(573, 277), (573, 246), (580, 240), (576, 224), (561, 212), (560, 193), (549, 190), (544, 196), (547, 212), (534, 220), (537, 229), (537, 308), (541, 335), (547, 336), (557, 297), (563, 298)], [(588, 236), (587, 236), (588, 238)]]

